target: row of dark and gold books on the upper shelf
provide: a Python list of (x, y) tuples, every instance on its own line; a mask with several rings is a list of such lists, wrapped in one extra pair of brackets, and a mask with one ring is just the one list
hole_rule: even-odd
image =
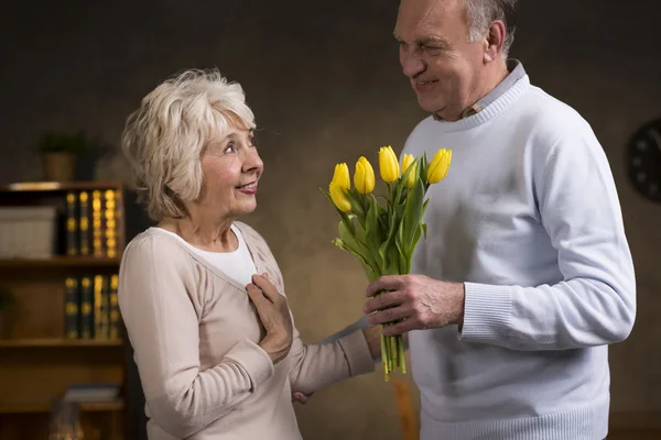
[(67, 193), (67, 255), (118, 256), (120, 198), (121, 191), (117, 189)]

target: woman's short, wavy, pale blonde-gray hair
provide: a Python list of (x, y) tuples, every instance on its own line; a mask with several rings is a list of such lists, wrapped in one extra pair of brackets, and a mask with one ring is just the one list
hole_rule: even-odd
[(156, 221), (186, 216), (203, 188), (201, 155), (230, 124), (254, 129), (243, 89), (217, 69), (189, 69), (165, 80), (127, 120), (121, 145), (138, 200)]

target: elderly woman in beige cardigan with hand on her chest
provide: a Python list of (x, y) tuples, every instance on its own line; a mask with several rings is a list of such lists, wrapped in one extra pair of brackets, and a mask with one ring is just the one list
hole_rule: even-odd
[(379, 355), (377, 329), (301, 341), (269, 246), (237, 221), (263, 172), (254, 127), (238, 84), (188, 70), (150, 92), (122, 135), (158, 221), (119, 275), (151, 440), (301, 439), (292, 388), (371, 372)]

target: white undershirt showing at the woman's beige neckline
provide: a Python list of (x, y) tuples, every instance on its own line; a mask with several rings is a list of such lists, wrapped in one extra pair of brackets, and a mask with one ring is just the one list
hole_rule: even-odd
[(195, 248), (174, 232), (170, 232), (161, 228), (160, 230), (171, 234), (172, 237), (176, 237), (176, 239), (184, 243), (191, 251), (205, 258), (209, 264), (221, 271), (227, 276), (230, 276), (239, 282), (242, 286), (252, 283), (252, 275), (257, 274), (257, 267), (254, 266), (252, 256), (248, 251), (248, 245), (246, 244), (246, 240), (243, 240), (241, 231), (239, 231), (239, 229), (234, 224), (231, 226), (231, 230), (239, 241), (239, 246), (232, 252), (203, 251), (202, 249)]

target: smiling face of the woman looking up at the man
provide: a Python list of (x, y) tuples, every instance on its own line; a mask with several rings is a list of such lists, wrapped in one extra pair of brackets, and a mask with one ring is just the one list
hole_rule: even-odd
[(251, 130), (229, 125), (223, 136), (209, 142), (202, 154), (204, 185), (199, 204), (223, 217), (238, 217), (257, 208), (257, 184), (263, 163)]

